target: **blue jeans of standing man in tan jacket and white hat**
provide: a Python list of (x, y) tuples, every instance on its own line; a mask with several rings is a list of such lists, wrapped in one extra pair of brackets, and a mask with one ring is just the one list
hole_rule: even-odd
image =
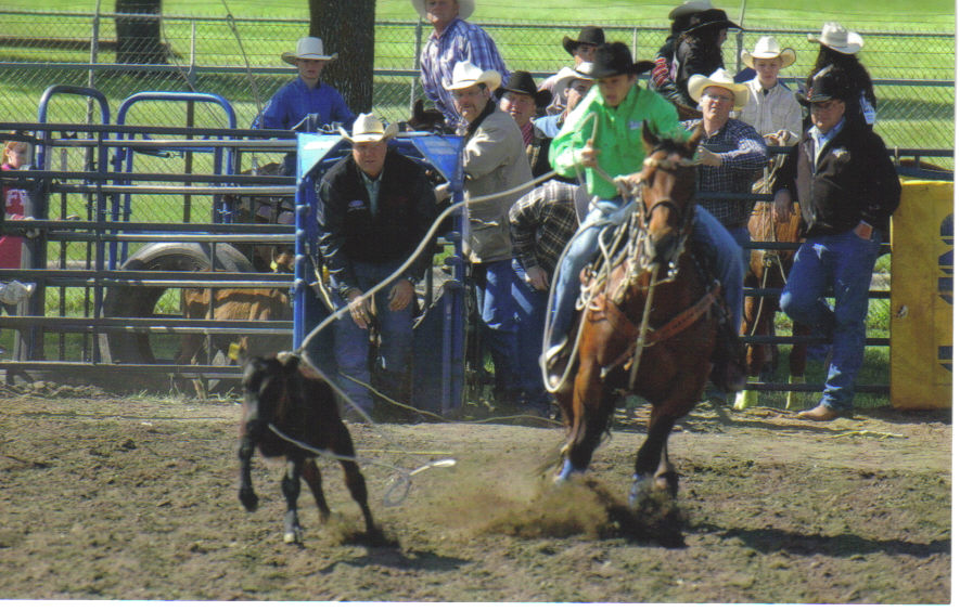
[(517, 325), (511, 295), (515, 277), (510, 259), (473, 265), (476, 310), (483, 323), (481, 338), (494, 360), (494, 388), (497, 392), (520, 390)]

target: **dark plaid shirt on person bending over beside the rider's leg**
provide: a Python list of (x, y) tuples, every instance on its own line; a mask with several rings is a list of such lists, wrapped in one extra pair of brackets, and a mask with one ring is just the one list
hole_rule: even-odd
[(579, 224), (576, 191), (575, 184), (551, 180), (510, 207), (513, 250), (525, 269), (540, 266), (553, 275), (556, 260)]

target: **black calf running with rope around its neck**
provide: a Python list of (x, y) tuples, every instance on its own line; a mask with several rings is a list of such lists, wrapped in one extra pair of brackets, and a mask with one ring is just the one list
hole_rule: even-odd
[[(240, 502), (248, 511), (257, 508), (257, 495), (251, 481), (251, 459), (255, 447), (267, 457), (284, 456), (286, 472), (282, 490), (286, 498), (283, 520), (283, 541), (300, 543), (303, 529), (297, 519), (297, 497), (303, 478), (320, 509), (320, 521), (325, 522), (330, 508), (323, 498), (320, 469), (315, 453), (297, 446), (270, 430), (270, 425), (284, 435), (309, 447), (325, 450), (338, 456), (354, 456), (350, 433), (337, 414), (333, 389), (308, 367), (300, 365), (299, 356), (281, 353), (277, 358), (254, 356), (243, 372), (244, 415), (240, 440)], [(341, 459), (344, 479), (350, 496), (363, 511), (367, 534), (379, 533), (367, 504), (367, 483), (357, 463)]]

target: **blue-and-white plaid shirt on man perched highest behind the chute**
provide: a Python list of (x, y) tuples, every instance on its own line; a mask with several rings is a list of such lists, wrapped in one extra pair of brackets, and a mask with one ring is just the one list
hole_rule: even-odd
[(434, 30), (420, 54), (420, 80), (423, 92), (452, 128), (460, 123), (460, 115), (453, 105), (453, 94), (444, 89), (444, 84), (450, 84), (453, 65), (464, 60), (483, 70), (497, 70), (502, 77), (501, 83), (510, 77), (497, 44), (479, 26), (457, 17), (441, 34)]

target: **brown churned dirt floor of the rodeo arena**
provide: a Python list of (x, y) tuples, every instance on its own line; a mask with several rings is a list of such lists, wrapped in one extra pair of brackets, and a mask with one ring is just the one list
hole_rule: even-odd
[[(282, 465), (236, 499), (236, 401), (0, 388), (0, 599), (610, 602), (950, 601), (949, 413), (830, 424), (699, 407), (671, 437), (682, 544), (628, 534), (644, 432), (618, 413), (589, 474), (552, 486), (559, 429), (350, 425), (375, 519), (369, 547), (340, 467), (334, 519), (300, 497), (282, 543)], [(410, 480), (394, 468), (455, 458)], [(631, 531), (636, 533), (636, 531)]]

